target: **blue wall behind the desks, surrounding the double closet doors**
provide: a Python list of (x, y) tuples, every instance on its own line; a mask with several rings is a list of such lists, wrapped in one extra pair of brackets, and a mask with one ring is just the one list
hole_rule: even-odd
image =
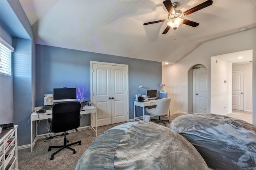
[[(140, 85), (158, 90), (159, 96), (161, 62), (36, 45), (36, 106), (44, 106), (44, 94), (52, 94), (53, 88), (63, 87), (80, 88), (85, 100), (90, 101), (90, 61), (128, 64), (129, 119), (134, 117), (135, 94), (145, 94)], [(89, 117), (85, 122), (89, 123)]]

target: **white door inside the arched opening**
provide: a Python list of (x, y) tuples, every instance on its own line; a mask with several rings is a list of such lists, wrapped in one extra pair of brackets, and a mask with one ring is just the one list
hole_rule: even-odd
[(194, 113), (207, 113), (207, 69), (194, 69)]

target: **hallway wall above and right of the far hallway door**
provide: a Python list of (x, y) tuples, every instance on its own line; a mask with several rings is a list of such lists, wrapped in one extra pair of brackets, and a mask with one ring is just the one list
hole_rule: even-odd
[(233, 71), (244, 71), (244, 111), (252, 111), (252, 63), (233, 65)]

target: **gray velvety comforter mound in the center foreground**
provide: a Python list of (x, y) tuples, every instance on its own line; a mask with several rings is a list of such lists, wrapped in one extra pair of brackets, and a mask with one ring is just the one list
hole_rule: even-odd
[(102, 133), (76, 165), (85, 169), (208, 169), (182, 135), (153, 122), (128, 122)]

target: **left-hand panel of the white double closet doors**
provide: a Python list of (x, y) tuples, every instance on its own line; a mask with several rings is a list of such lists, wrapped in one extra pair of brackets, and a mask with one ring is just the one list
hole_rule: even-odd
[[(92, 64), (93, 104), (97, 107), (97, 126), (111, 124), (111, 66)], [(110, 98), (110, 99), (109, 99)]]

